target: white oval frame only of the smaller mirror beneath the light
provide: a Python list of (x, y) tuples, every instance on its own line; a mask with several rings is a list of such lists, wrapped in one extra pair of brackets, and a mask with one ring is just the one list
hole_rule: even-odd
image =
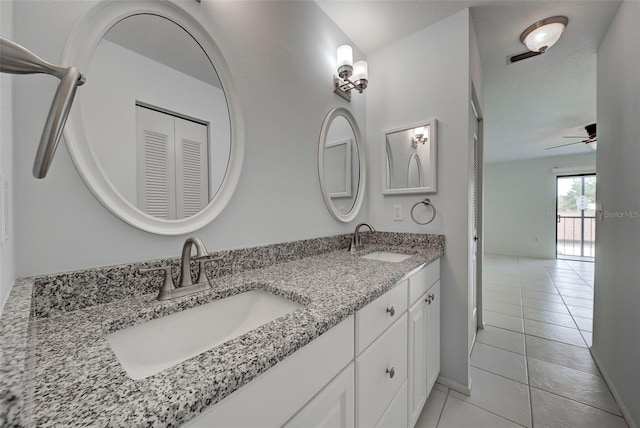
[[(324, 175), (324, 149), (327, 142), (327, 135), (329, 133), (329, 128), (331, 127), (331, 123), (337, 117), (344, 117), (349, 125), (351, 125), (351, 129), (353, 129), (353, 134), (355, 135), (356, 140), (356, 148), (358, 149), (358, 188), (356, 189), (356, 199), (351, 207), (351, 210), (347, 213), (341, 213), (336, 209), (333, 201), (331, 200), (331, 196), (329, 195), (329, 190), (327, 189), (327, 184)], [(324, 203), (327, 206), (327, 209), (331, 213), (331, 215), (336, 219), (344, 223), (348, 223), (353, 221), (356, 218), (358, 213), (360, 212), (360, 208), (362, 207), (362, 202), (364, 200), (365, 187), (366, 187), (366, 176), (367, 176), (367, 165), (364, 158), (364, 143), (362, 141), (362, 134), (360, 133), (360, 128), (358, 127), (358, 123), (356, 122), (356, 118), (353, 114), (344, 107), (336, 107), (331, 110), (327, 116), (324, 118), (324, 122), (322, 123), (322, 129), (320, 131), (320, 139), (318, 141), (318, 176), (320, 178), (320, 190), (322, 191), (322, 197), (324, 199)]]

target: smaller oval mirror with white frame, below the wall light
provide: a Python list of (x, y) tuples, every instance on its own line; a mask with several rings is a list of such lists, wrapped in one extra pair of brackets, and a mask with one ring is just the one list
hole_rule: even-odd
[(318, 142), (318, 175), (322, 197), (331, 215), (352, 221), (362, 207), (366, 164), (355, 117), (344, 107), (331, 110)]

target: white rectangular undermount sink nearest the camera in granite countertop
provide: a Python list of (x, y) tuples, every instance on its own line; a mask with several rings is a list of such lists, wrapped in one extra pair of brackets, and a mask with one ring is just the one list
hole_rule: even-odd
[(302, 305), (248, 291), (106, 336), (132, 379), (144, 379), (234, 339)]

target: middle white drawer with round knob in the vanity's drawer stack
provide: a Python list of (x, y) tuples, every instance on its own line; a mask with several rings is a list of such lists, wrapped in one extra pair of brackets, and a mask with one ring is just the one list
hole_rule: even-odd
[[(374, 426), (400, 387), (404, 385), (406, 388), (406, 377), (407, 314), (405, 313), (356, 358), (356, 425)], [(406, 406), (404, 411), (406, 412)]]

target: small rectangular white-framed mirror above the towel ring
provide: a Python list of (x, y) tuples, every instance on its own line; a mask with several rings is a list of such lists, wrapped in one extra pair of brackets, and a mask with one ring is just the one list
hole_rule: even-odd
[(383, 133), (382, 193), (435, 193), (437, 122), (431, 119)]

